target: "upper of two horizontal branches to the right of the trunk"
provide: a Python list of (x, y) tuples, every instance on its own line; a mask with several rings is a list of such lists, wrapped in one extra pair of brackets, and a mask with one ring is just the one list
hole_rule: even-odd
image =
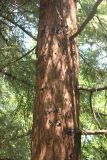
[(88, 88), (88, 87), (82, 87), (79, 86), (78, 90), (80, 91), (86, 91), (86, 92), (98, 92), (98, 91), (103, 91), (103, 90), (107, 90), (107, 86), (104, 87), (96, 87), (96, 88)]

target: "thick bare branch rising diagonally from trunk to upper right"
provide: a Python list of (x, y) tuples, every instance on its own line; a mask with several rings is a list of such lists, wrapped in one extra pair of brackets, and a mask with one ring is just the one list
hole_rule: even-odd
[(89, 13), (89, 15), (87, 16), (87, 18), (85, 19), (85, 21), (82, 23), (82, 25), (80, 26), (80, 28), (77, 30), (76, 33), (74, 33), (71, 37), (70, 37), (70, 40), (72, 41), (75, 37), (78, 36), (78, 34), (80, 34), (84, 29), (85, 27), (87, 26), (87, 24), (93, 19), (94, 15), (96, 14), (97, 12), (97, 8), (98, 6), (100, 5), (100, 3), (102, 2), (103, 0), (97, 0), (96, 3), (94, 4), (91, 12)]

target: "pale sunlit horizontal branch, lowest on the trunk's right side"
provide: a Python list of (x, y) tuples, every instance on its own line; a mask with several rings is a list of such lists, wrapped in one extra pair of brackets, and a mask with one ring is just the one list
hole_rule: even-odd
[(97, 134), (107, 134), (107, 130), (87, 130), (81, 131), (82, 135), (97, 135)]

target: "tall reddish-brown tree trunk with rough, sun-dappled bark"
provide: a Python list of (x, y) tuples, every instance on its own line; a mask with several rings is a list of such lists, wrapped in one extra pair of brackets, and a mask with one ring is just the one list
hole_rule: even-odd
[(79, 160), (75, 0), (40, 0), (32, 160)]

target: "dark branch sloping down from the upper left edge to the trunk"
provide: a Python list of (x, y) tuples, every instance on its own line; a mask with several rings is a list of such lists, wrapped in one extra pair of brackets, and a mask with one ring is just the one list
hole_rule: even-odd
[(10, 19), (7, 16), (4, 16), (3, 14), (0, 13), (0, 16), (2, 18), (4, 18), (5, 20), (9, 21), (10, 23), (14, 24), (15, 26), (19, 27), (23, 32), (25, 32), (28, 36), (30, 36), (31, 38), (33, 38), (34, 40), (36, 40), (36, 38), (29, 32), (27, 31), (24, 27), (22, 27), (21, 25), (19, 25), (17, 22), (13, 21), (12, 19)]

